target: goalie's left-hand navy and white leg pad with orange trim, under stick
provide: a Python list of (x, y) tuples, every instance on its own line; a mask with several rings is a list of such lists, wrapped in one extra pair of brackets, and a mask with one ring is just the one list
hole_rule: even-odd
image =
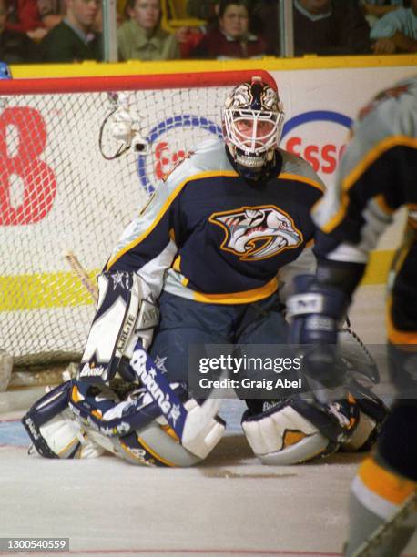
[[(188, 392), (182, 385), (171, 387), (188, 413), (198, 407), (196, 400), (187, 400)], [(69, 406), (93, 441), (132, 464), (193, 466), (212, 451), (225, 429), (218, 417), (209, 420), (186, 449), (145, 389), (119, 400), (104, 385), (75, 382)]]

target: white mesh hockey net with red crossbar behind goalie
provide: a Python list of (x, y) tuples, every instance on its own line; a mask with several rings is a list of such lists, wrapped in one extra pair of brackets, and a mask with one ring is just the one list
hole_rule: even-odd
[[(253, 75), (270, 79), (251, 70), (0, 82), (0, 348), (15, 363), (79, 358), (94, 304), (66, 252), (95, 279), (158, 180), (221, 136), (225, 96)], [(131, 92), (146, 155), (101, 156), (113, 91)]]

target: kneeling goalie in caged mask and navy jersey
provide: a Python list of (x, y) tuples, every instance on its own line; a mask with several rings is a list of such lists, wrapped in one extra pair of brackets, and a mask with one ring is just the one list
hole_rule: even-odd
[[(275, 84), (255, 76), (237, 86), (223, 112), (225, 141), (188, 153), (127, 227), (98, 278), (77, 380), (25, 418), (38, 451), (79, 456), (88, 439), (129, 461), (183, 466), (219, 441), (217, 401), (199, 405), (188, 392), (188, 346), (286, 343), (290, 277), (315, 265), (310, 209), (324, 186), (278, 147), (283, 120)], [(117, 390), (117, 373), (128, 393)], [(276, 464), (335, 451), (346, 429), (362, 446), (383, 414), (378, 400), (365, 412), (351, 397), (319, 409), (297, 396), (248, 406), (249, 444)]]

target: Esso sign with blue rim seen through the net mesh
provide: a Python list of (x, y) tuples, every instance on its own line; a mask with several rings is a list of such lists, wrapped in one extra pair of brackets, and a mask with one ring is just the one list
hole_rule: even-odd
[[(137, 158), (137, 175), (147, 193), (155, 190), (188, 151), (210, 137), (222, 137), (221, 127), (205, 116), (183, 114), (159, 122), (147, 135), (147, 153)], [(151, 176), (149, 176), (151, 162)]]

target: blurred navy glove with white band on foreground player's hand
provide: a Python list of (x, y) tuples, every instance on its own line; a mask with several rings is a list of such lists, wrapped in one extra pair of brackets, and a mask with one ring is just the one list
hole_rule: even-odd
[(296, 294), (287, 302), (290, 343), (309, 345), (303, 350), (303, 370), (310, 378), (337, 387), (342, 382), (336, 365), (339, 323), (350, 300), (341, 289), (319, 285), (311, 275), (296, 277), (294, 284)]

